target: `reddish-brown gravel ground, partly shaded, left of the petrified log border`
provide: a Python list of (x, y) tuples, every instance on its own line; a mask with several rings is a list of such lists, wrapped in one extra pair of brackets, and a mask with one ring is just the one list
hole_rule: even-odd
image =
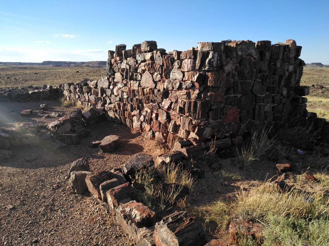
[[(43, 103), (51, 107), (49, 112), (69, 115), (71, 111), (60, 107), (57, 101), (0, 102), (0, 127), (55, 120), (37, 114), (29, 118), (19, 115), (25, 109), (37, 111)], [(123, 124), (104, 121), (89, 130), (90, 135), (80, 139), (79, 144), (61, 151), (42, 145), (24, 146), (13, 149), (12, 158), (0, 160), (0, 245), (133, 245), (132, 238), (103, 204), (91, 198), (90, 193), (71, 192), (68, 169), (74, 160), (86, 156), (91, 171), (122, 168), (133, 154), (156, 156), (163, 149)], [(114, 153), (90, 148), (91, 141), (112, 134), (120, 138), (120, 148)]]

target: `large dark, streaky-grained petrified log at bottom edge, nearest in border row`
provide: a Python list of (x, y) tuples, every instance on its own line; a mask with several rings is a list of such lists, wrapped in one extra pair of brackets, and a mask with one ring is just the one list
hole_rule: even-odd
[(203, 246), (207, 243), (202, 225), (186, 211), (176, 211), (156, 223), (153, 238), (157, 246)]

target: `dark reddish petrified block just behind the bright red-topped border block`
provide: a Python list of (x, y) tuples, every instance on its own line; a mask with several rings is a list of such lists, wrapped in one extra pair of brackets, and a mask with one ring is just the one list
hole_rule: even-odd
[(117, 206), (134, 199), (134, 190), (129, 183), (119, 184), (106, 191), (106, 198), (109, 210), (114, 215)]

